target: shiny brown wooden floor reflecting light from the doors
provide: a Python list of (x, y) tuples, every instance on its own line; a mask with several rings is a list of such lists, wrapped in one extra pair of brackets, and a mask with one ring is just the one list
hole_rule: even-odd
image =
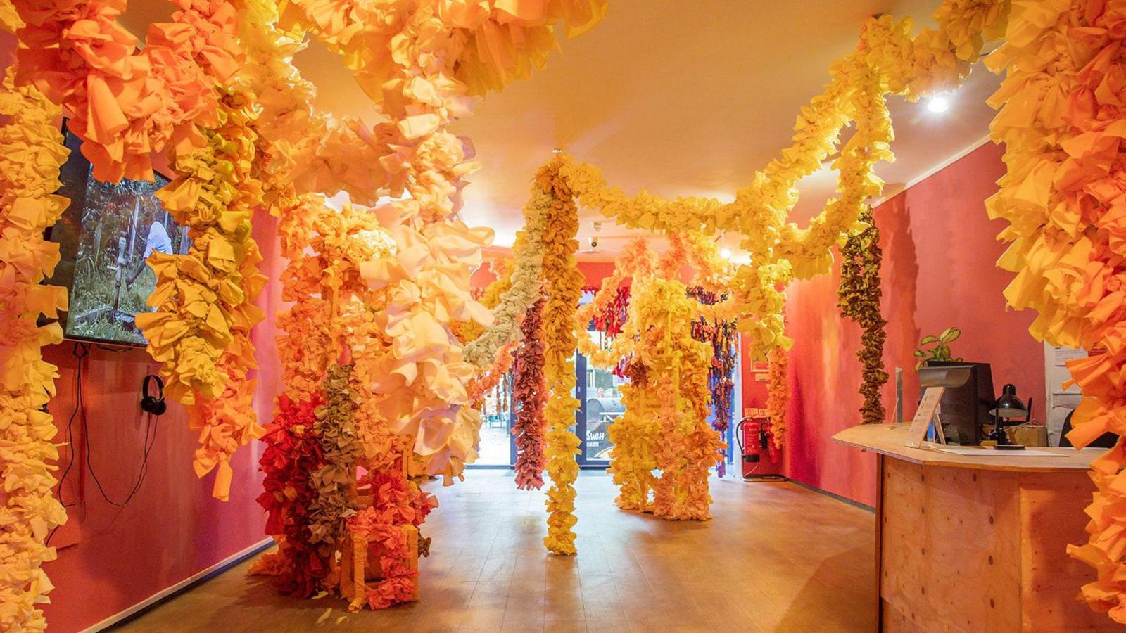
[(602, 472), (579, 478), (579, 555), (547, 555), (543, 493), (511, 471), (431, 484), (421, 601), (348, 613), (247, 578), (245, 563), (126, 631), (872, 631), (874, 518), (792, 483), (712, 482), (708, 523), (618, 510)]

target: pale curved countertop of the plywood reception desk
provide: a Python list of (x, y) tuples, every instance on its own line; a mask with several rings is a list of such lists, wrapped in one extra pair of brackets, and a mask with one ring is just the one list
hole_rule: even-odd
[(981, 456), (956, 455), (928, 448), (909, 448), (908, 426), (897, 425), (857, 425), (833, 436), (833, 440), (847, 444), (863, 451), (872, 451), (927, 466), (945, 466), (951, 469), (978, 469), (984, 471), (1076, 471), (1087, 470), (1091, 460), (1105, 452), (1102, 448), (1058, 448), (1035, 446), (1036, 451), (1058, 453), (1063, 457), (1047, 456)]

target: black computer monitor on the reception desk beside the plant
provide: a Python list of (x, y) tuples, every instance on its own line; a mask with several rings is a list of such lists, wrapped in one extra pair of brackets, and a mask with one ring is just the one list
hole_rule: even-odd
[(945, 386), (938, 418), (947, 444), (981, 444), (982, 425), (992, 424), (989, 414), (997, 399), (989, 363), (931, 360), (919, 369), (919, 386)]

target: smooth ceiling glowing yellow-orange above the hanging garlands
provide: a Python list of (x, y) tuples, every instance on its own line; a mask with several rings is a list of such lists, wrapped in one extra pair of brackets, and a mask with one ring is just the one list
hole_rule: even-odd
[[(133, 5), (126, 21), (135, 32), (163, 18), (169, 6)], [(856, 46), (866, 17), (890, 12), (930, 24), (927, 16), (937, 6), (938, 0), (610, 0), (606, 19), (564, 42), (544, 71), (488, 96), (475, 116), (455, 125), (473, 140), (482, 163), (470, 177), (464, 216), (494, 228), (498, 244), (510, 244), (529, 180), (553, 148), (600, 167), (627, 193), (645, 188), (730, 199), (788, 144), (799, 108), (829, 80), (833, 60)], [(318, 84), (319, 107), (370, 117), (370, 101), (332, 53), (311, 46), (297, 65)], [(893, 97), (896, 161), (877, 171), (888, 189), (985, 136), (993, 116), (985, 98), (998, 81), (978, 66), (942, 115)], [(835, 175), (828, 170), (803, 181), (796, 217), (815, 214), (834, 187)], [(582, 215), (586, 239), (599, 217)], [(610, 223), (601, 232), (623, 233)], [(604, 252), (587, 259), (613, 258), (622, 243), (602, 240)]]

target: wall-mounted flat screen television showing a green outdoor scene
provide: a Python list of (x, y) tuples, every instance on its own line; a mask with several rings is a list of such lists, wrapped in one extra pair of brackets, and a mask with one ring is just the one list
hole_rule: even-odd
[(157, 276), (145, 264), (154, 250), (186, 253), (188, 231), (157, 198), (168, 178), (154, 182), (96, 179), (79, 148), (63, 128), (70, 158), (60, 172), (59, 193), (71, 203), (47, 239), (59, 243), (61, 260), (46, 283), (65, 286), (70, 311), (60, 319), (68, 339), (108, 345), (145, 345), (133, 316), (154, 309), (146, 303)]

